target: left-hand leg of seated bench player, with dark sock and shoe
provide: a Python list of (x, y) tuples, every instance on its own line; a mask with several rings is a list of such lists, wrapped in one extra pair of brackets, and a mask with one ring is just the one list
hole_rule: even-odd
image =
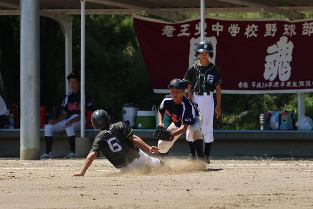
[(61, 132), (65, 130), (66, 120), (61, 120), (55, 124), (45, 125), (45, 153), (40, 158), (53, 158), (52, 156), (52, 144), (53, 133)]

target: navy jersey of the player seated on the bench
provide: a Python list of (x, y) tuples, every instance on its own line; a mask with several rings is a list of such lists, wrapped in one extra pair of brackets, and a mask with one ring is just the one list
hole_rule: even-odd
[[(67, 112), (68, 115), (80, 114), (80, 90), (77, 93), (67, 93), (63, 102), (63, 111)], [(92, 104), (90, 97), (85, 93), (85, 106), (87, 110), (91, 110)]]

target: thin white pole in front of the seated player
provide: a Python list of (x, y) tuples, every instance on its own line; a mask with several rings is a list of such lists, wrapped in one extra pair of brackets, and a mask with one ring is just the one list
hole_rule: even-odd
[(85, 137), (85, 2), (81, 0), (80, 46), (80, 137)]

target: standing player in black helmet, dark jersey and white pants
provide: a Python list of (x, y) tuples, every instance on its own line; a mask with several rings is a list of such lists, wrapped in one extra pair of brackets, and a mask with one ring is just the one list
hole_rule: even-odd
[[(188, 98), (196, 102), (203, 116), (202, 133), (204, 136), (203, 158), (210, 163), (210, 149), (213, 142), (213, 116), (222, 115), (221, 112), (221, 84), (220, 70), (209, 62), (209, 56), (213, 57), (213, 46), (208, 41), (200, 42), (196, 48), (196, 56), (200, 56), (186, 72), (183, 81), (188, 82)], [(216, 107), (214, 110), (213, 92), (216, 90)]]

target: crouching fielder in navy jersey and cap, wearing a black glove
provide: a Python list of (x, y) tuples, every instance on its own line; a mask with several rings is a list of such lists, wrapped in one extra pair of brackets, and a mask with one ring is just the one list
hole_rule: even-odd
[(186, 132), (190, 151), (189, 157), (195, 158), (195, 151), (199, 158), (202, 158), (202, 136), (201, 126), (202, 117), (197, 107), (198, 105), (189, 100), (185, 93), (185, 84), (182, 80), (175, 78), (170, 82), (168, 88), (171, 90), (170, 95), (166, 95), (158, 107), (158, 125), (164, 127), (162, 123), (164, 114), (172, 119), (172, 123), (167, 128), (173, 135), (170, 141), (159, 140), (157, 147), (161, 156), (168, 155), (169, 149), (181, 134)]

